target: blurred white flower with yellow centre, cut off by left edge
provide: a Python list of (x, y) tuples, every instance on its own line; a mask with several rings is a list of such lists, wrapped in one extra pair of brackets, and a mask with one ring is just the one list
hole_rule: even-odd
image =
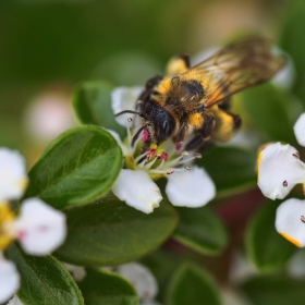
[(65, 216), (39, 198), (25, 199), (19, 216), (14, 215), (10, 200), (20, 199), (26, 185), (24, 158), (17, 151), (0, 148), (0, 303), (20, 286), (14, 263), (4, 257), (9, 245), (16, 240), (27, 254), (47, 255), (64, 241), (66, 234)]

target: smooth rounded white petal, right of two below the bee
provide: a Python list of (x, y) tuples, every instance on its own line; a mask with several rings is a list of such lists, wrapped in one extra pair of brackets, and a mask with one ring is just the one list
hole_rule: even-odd
[(208, 173), (198, 167), (168, 175), (166, 193), (174, 206), (202, 207), (216, 195), (216, 187)]

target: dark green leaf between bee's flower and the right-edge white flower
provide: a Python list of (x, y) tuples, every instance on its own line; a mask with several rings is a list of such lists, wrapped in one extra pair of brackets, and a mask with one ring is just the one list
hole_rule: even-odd
[(256, 151), (237, 147), (215, 147), (197, 163), (213, 180), (217, 197), (233, 195), (256, 184)]

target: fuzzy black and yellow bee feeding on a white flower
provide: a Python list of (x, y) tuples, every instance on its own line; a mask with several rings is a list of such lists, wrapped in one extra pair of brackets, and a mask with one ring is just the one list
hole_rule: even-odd
[(229, 141), (241, 127), (240, 115), (230, 112), (231, 96), (269, 81), (285, 63), (266, 38), (252, 36), (232, 42), (203, 62), (190, 66), (182, 56), (170, 61), (168, 76), (147, 81), (137, 101), (143, 125), (134, 142), (160, 145), (171, 138), (178, 146), (192, 138), (186, 149), (209, 141)]

